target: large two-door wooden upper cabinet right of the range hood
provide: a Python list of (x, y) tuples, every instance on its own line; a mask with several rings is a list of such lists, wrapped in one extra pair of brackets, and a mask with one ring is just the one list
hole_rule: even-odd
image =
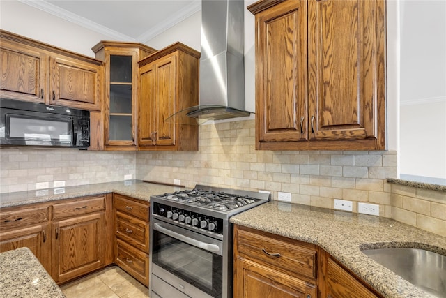
[(385, 149), (385, 2), (259, 1), (256, 149)]

